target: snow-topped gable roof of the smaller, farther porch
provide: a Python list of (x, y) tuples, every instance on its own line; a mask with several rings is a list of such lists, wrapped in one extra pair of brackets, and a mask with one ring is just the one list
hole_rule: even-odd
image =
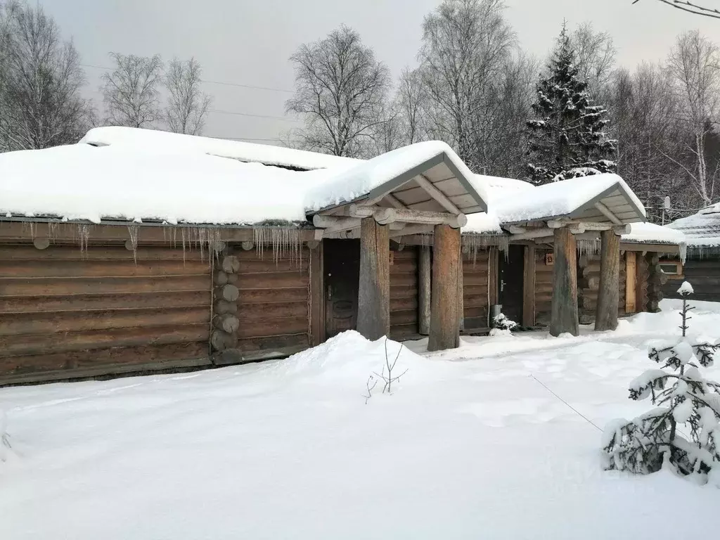
[(645, 219), (642, 202), (616, 174), (583, 176), (518, 191), (512, 197), (503, 197), (493, 204), (493, 211), (500, 222), (518, 223), (557, 217), (608, 221), (595, 208), (596, 202), (606, 204), (621, 222)]

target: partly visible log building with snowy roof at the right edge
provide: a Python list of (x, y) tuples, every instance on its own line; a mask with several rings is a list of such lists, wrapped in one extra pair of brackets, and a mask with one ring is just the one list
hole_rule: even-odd
[(683, 258), (665, 256), (660, 261), (666, 298), (680, 298), (678, 289), (685, 280), (693, 285), (693, 300), (720, 302), (720, 204), (703, 208), (694, 215), (666, 225), (685, 234), (687, 253)]

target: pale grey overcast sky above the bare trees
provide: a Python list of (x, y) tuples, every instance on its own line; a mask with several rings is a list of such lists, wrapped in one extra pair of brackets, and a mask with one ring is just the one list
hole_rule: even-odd
[[(36, 0), (37, 1), (37, 0)], [(340, 24), (360, 32), (397, 76), (415, 64), (423, 17), (438, 0), (40, 0), (82, 62), (109, 66), (110, 51), (168, 60), (194, 56), (206, 81), (292, 90), (289, 55)], [(544, 57), (562, 19), (590, 21), (610, 32), (618, 63), (660, 60), (678, 33), (695, 28), (720, 36), (720, 20), (680, 12), (655, 0), (507, 0), (507, 17), (524, 49)], [(85, 68), (88, 96), (102, 106), (102, 70)], [(287, 91), (204, 84), (215, 111), (284, 116)], [(297, 122), (212, 112), (204, 135), (274, 143)], [(268, 139), (267, 141), (260, 141)]]

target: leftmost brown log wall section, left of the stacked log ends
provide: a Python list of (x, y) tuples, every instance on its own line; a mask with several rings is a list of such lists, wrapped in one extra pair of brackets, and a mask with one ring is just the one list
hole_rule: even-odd
[(207, 251), (48, 244), (0, 244), (0, 382), (210, 364)]

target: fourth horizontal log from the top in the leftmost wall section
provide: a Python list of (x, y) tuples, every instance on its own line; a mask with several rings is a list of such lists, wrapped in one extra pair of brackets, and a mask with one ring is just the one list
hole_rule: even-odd
[(209, 308), (210, 291), (0, 297), (0, 313), (194, 306), (207, 306)]

